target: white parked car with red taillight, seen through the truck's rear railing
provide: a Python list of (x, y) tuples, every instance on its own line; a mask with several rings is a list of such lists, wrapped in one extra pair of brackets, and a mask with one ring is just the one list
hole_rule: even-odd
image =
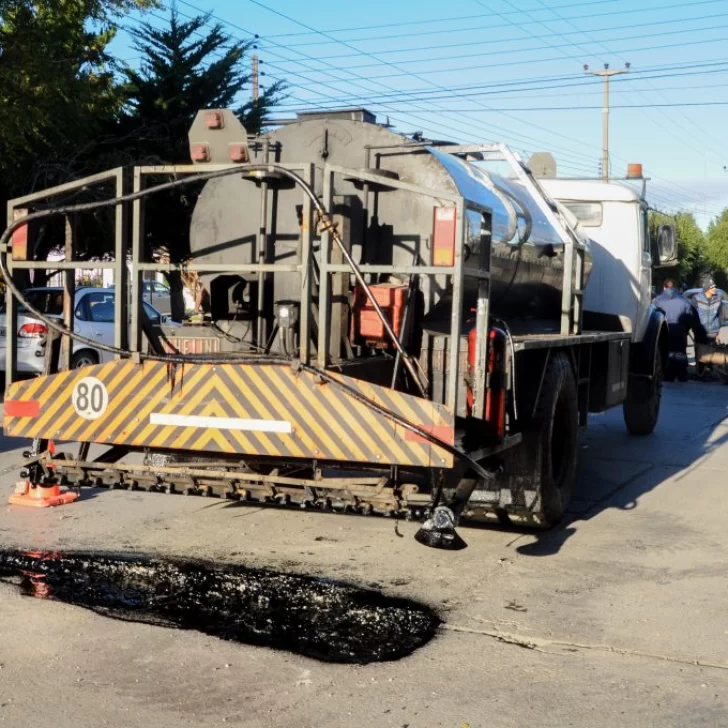
[[(41, 313), (49, 318), (63, 318), (62, 288), (29, 288), (23, 294)], [(114, 289), (79, 288), (76, 291), (74, 331), (87, 339), (93, 339), (107, 346), (114, 346)], [(146, 301), (144, 310), (152, 323), (170, 323), (169, 317), (159, 312)], [(46, 325), (30, 314), (23, 306), (18, 308), (18, 371), (26, 374), (41, 374), (45, 355)], [(7, 331), (5, 327), (5, 306), (0, 307), (0, 372), (5, 371)], [(73, 342), (73, 368), (109, 361), (113, 354), (89, 348)]]

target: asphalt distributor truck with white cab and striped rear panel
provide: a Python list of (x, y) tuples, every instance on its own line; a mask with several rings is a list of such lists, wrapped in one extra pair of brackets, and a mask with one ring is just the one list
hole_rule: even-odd
[[(33, 441), (16, 502), (85, 485), (220, 495), (415, 518), (419, 541), (457, 548), (462, 519), (559, 522), (589, 413), (622, 406), (630, 433), (652, 432), (667, 332), (651, 271), (676, 239), (651, 239), (644, 182), (537, 176), (506, 145), (413, 140), (363, 109), (255, 138), (205, 110), (189, 148), (188, 165), (9, 203), (8, 330), (20, 303), (63, 340), (13, 381), (7, 337), (5, 433)], [(150, 197), (192, 184), (187, 257), (150, 262)], [(73, 221), (104, 207), (114, 259), (77, 260)], [(31, 260), (53, 217), (65, 262)], [(65, 271), (62, 320), (18, 283), (43, 266)], [(129, 323), (114, 346), (74, 333), (73, 269), (89, 266), (127, 294), (109, 302)], [(196, 271), (204, 321), (150, 321), (149, 271)], [(97, 363), (74, 369), (84, 348)]]

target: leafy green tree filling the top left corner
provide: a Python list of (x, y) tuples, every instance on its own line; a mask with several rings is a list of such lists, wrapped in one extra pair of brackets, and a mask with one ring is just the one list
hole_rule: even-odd
[(0, 194), (83, 168), (121, 103), (107, 53), (121, 13), (154, 0), (0, 2)]

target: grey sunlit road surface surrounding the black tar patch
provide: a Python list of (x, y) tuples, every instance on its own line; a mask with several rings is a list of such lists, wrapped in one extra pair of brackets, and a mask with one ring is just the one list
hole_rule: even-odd
[[(462, 529), (461, 552), (420, 546), (412, 523), (197, 498), (2, 506), (0, 548), (267, 566), (422, 600), (444, 624), (399, 661), (339, 665), (0, 583), (0, 725), (728, 726), (727, 415), (727, 387), (688, 382), (666, 385), (650, 437), (593, 417), (564, 526)], [(2, 469), (22, 444), (0, 446)]]

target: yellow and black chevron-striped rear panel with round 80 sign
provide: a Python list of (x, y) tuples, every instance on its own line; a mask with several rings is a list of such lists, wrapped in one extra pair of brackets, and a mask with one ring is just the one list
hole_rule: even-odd
[[(342, 384), (453, 444), (444, 406)], [(335, 383), (279, 364), (113, 361), (15, 382), (5, 434), (197, 452), (452, 467), (453, 458)]]

